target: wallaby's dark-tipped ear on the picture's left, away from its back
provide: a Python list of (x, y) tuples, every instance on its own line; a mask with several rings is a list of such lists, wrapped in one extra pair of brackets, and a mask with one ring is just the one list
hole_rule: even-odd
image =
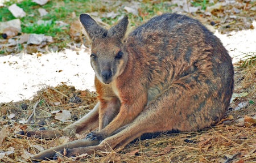
[(88, 14), (81, 14), (79, 19), (91, 40), (104, 38), (108, 34), (108, 31), (98, 25)]

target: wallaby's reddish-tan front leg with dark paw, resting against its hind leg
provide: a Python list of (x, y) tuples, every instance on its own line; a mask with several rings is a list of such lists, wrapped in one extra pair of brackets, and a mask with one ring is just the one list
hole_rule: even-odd
[(130, 98), (131, 101), (123, 101), (117, 117), (109, 123), (108, 126), (98, 132), (92, 132), (86, 136), (86, 138), (92, 138), (92, 140), (104, 140), (108, 136), (112, 135), (114, 131), (120, 127), (127, 125), (132, 122), (147, 104), (147, 95), (133, 96)]

